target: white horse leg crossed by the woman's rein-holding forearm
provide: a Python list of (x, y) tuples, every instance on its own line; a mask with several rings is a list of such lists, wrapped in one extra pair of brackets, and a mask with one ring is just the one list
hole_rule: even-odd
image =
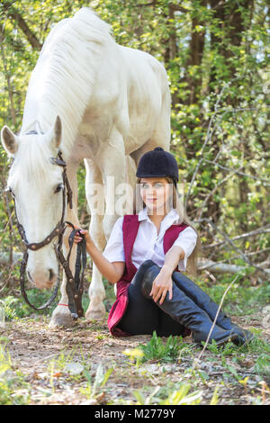
[[(85, 179), (85, 193), (86, 199), (91, 212), (91, 221), (89, 226), (89, 233), (94, 240), (94, 244), (103, 251), (106, 240), (103, 235), (103, 180), (101, 172), (92, 159), (85, 159), (86, 179)], [(93, 263), (92, 280), (89, 286), (90, 303), (85, 312), (86, 320), (100, 320), (106, 314), (103, 305), (105, 297), (105, 290), (103, 287), (103, 279), (101, 273), (98, 271)]]

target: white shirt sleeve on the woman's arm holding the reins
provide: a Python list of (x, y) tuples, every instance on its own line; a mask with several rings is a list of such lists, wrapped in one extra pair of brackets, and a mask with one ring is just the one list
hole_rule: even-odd
[(121, 216), (114, 223), (110, 238), (108, 239), (107, 245), (103, 251), (103, 257), (107, 258), (107, 260), (111, 263), (114, 261), (125, 262), (122, 238), (122, 221), (123, 217)]

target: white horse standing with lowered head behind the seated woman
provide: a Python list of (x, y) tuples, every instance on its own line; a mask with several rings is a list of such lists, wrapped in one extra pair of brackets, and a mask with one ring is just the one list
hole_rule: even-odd
[[(21, 131), (4, 126), (1, 138), (14, 157), (7, 184), (12, 189), (18, 219), (29, 242), (40, 242), (56, 227), (61, 216), (62, 169), (49, 158), (62, 152), (73, 191), (73, 209), (66, 219), (78, 225), (76, 170), (85, 160), (85, 192), (91, 212), (90, 234), (103, 251), (117, 219), (112, 202), (114, 186), (135, 182), (135, 166), (146, 151), (169, 149), (170, 92), (166, 70), (149, 54), (121, 47), (110, 27), (89, 8), (64, 19), (50, 31), (31, 74)], [(58, 118), (60, 117), (60, 119)], [(30, 132), (30, 133), (29, 133)], [(130, 175), (131, 180), (128, 179)], [(104, 186), (105, 211), (96, 211), (93, 187)], [(64, 254), (67, 254), (67, 231)], [(74, 271), (76, 248), (71, 255)], [(38, 288), (56, 283), (58, 262), (53, 243), (29, 251), (27, 275)], [(103, 318), (102, 275), (93, 266), (90, 304), (85, 318)], [(59, 304), (67, 304), (66, 277)], [(50, 325), (68, 325), (64, 305), (53, 311)]]

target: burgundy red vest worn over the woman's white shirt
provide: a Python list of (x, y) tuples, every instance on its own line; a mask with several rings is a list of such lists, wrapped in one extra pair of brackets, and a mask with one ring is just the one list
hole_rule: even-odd
[[(188, 225), (181, 223), (180, 225), (172, 225), (166, 229), (163, 239), (163, 248), (165, 254), (168, 249), (173, 246), (179, 233), (187, 228), (187, 226)], [(122, 231), (126, 266), (124, 273), (121, 276), (121, 280), (117, 283), (116, 302), (114, 302), (112, 305), (112, 309), (108, 317), (108, 327), (114, 337), (130, 337), (129, 333), (123, 332), (121, 329), (117, 328), (117, 324), (120, 322), (128, 306), (128, 287), (138, 270), (131, 261), (132, 248), (138, 233), (138, 229), (139, 220), (137, 214), (127, 214), (124, 216)]]

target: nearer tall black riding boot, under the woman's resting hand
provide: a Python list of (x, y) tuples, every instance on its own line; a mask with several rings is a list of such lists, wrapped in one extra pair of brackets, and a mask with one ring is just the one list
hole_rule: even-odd
[[(152, 289), (152, 283), (157, 277), (160, 268), (151, 260), (145, 261), (141, 266), (134, 278), (141, 278), (141, 292), (147, 298), (152, 298), (149, 293)], [(208, 334), (211, 330), (212, 321), (208, 314), (197, 306), (193, 300), (191, 300), (183, 291), (181, 291), (176, 284), (173, 284), (173, 298), (168, 300), (168, 294), (166, 299), (160, 305), (157, 302), (157, 306), (165, 311), (172, 319), (184, 327), (190, 329), (193, 334), (193, 340), (199, 344), (202, 341), (206, 341)], [(211, 332), (211, 339), (214, 339), (217, 345), (224, 344), (230, 339), (237, 338), (238, 335), (230, 330), (221, 329), (215, 325)]]

